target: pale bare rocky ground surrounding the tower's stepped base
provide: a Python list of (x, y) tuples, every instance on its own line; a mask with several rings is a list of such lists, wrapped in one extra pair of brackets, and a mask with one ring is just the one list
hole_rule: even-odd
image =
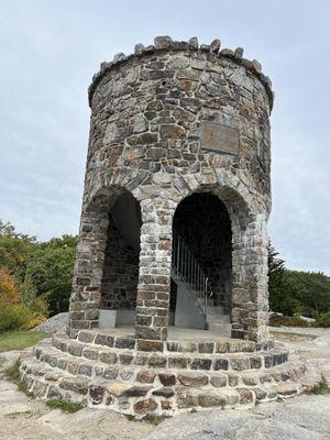
[[(310, 376), (330, 383), (330, 330), (273, 329), (292, 359), (302, 359)], [(314, 337), (316, 336), (316, 338)], [(253, 410), (212, 410), (180, 415), (158, 427), (130, 421), (109, 410), (76, 414), (51, 410), (7, 381), (4, 371), (19, 352), (0, 353), (0, 438), (7, 440), (326, 440), (330, 439), (330, 395), (302, 395)], [(2, 358), (2, 362), (1, 362)]]

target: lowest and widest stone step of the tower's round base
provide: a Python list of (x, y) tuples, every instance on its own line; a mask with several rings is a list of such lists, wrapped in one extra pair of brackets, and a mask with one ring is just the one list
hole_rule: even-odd
[(142, 417), (170, 416), (191, 408), (240, 408), (290, 397), (302, 391), (299, 378), (305, 367), (288, 363), (257, 372), (256, 378), (246, 373), (161, 372), (140, 366), (132, 375), (108, 380), (74, 375), (30, 356), (22, 360), (20, 372), (29, 391), (38, 398), (64, 398)]

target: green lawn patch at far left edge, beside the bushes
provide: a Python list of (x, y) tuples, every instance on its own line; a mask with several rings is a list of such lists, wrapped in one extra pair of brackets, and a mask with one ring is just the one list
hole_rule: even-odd
[(51, 336), (45, 331), (6, 331), (0, 333), (0, 352), (23, 350)]

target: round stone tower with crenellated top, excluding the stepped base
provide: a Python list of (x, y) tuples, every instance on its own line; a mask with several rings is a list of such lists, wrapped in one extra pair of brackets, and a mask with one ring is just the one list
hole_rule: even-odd
[(231, 338), (266, 346), (273, 92), (261, 65), (219, 40), (157, 36), (102, 63), (89, 105), (69, 337), (134, 322), (156, 344), (169, 324), (221, 333), (228, 316)]

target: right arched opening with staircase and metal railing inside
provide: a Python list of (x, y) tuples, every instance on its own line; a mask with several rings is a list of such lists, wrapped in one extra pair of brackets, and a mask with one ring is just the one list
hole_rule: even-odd
[(232, 230), (219, 197), (195, 193), (178, 205), (172, 263), (175, 324), (230, 336)]

